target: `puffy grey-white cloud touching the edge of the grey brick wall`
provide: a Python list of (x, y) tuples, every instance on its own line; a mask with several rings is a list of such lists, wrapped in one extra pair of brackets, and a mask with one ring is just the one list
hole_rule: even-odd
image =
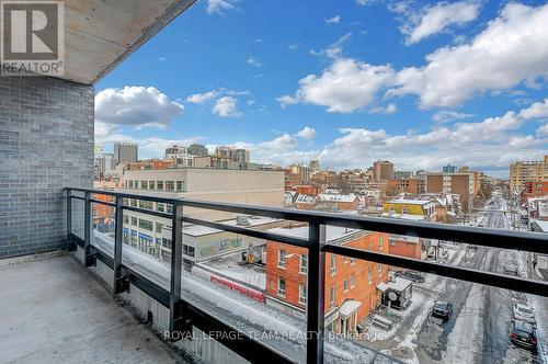
[(183, 111), (182, 104), (152, 87), (126, 86), (123, 89), (105, 89), (95, 95), (95, 122), (100, 125), (163, 128)]

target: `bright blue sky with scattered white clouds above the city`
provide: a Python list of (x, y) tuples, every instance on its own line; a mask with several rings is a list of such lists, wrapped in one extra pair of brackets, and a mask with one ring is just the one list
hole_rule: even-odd
[(95, 86), (95, 143), (507, 177), (548, 155), (546, 1), (198, 0)]

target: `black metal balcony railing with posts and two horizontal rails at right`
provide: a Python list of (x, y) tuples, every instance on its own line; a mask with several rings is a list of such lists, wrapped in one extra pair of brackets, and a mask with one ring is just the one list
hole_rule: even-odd
[[(107, 195), (113, 202), (93, 198), (93, 195)], [(124, 204), (124, 198), (171, 204), (172, 213), (150, 211)], [(340, 254), (349, 258), (366, 260), (392, 266), (411, 269), (425, 273), (432, 273), (446, 277), (506, 288), (523, 293), (529, 293), (548, 297), (548, 284), (540, 281), (532, 281), (516, 276), (509, 276), (493, 272), (475, 269), (446, 265), (443, 263), (422, 261), (411, 258), (396, 257), (388, 253), (359, 250), (342, 244), (328, 243), (326, 241), (326, 226), (338, 226), (353, 229), (380, 231), (395, 235), (414, 236), (421, 238), (465, 242), (483, 247), (502, 248), (507, 250), (520, 250), (548, 255), (548, 235), (499, 230), (489, 228), (476, 228), (468, 226), (439, 225), (432, 223), (408, 221), (393, 218), (357, 217), (320, 212), (305, 212), (285, 208), (248, 206), (241, 204), (215, 203), (195, 201), (190, 198), (164, 198), (146, 194), (132, 194), (93, 189), (67, 189), (67, 228), (69, 248), (75, 243), (83, 249), (84, 265), (91, 266), (99, 259), (110, 266), (114, 272), (113, 294), (127, 291), (129, 283), (158, 300), (167, 307), (170, 312), (171, 332), (189, 332), (194, 326), (205, 332), (226, 332), (215, 338), (220, 343), (235, 351), (250, 362), (292, 363), (294, 359), (282, 351), (277, 351), (265, 343), (242, 334), (237, 328), (208, 311), (191, 304), (181, 297), (182, 275), (182, 230), (183, 223), (201, 225), (224, 231), (230, 231), (244, 236), (265, 240), (283, 242), (308, 249), (308, 298), (307, 298), (307, 332), (306, 332), (306, 361), (307, 363), (323, 363), (324, 356), (324, 275), (326, 253)], [(83, 239), (72, 232), (72, 202), (83, 201)], [(92, 234), (92, 203), (106, 205), (115, 208), (115, 238), (113, 257), (91, 244)], [(256, 229), (229, 226), (220, 223), (193, 218), (183, 214), (184, 207), (209, 209), (236, 214), (265, 216), (277, 219), (308, 223), (308, 239), (289, 237), (284, 235), (259, 231)], [(169, 291), (144, 276), (132, 266), (123, 264), (123, 212), (130, 211), (147, 215), (153, 215), (171, 220), (171, 280)], [(238, 339), (233, 338), (237, 333)]]

